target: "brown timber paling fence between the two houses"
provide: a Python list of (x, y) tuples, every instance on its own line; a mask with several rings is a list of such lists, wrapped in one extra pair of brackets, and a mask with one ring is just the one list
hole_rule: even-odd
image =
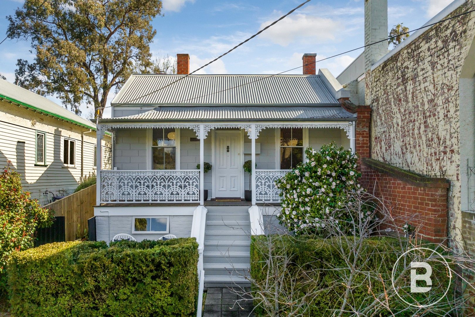
[[(49, 203), (42, 208), (54, 210), (54, 215), (58, 218), (58, 222), (62, 221), (59, 217), (64, 217), (64, 241), (74, 241), (76, 240), (77, 233), (84, 235), (85, 232), (87, 236), (87, 220), (94, 217), (95, 203), (94, 184), (56, 202)], [(51, 228), (53, 231), (57, 231), (58, 229), (59, 228), (56, 228), (55, 225)], [(56, 242), (55, 240), (57, 240), (57, 238), (54, 238), (52, 241), (47, 241), (48, 239), (44, 238), (44, 235), (57, 237), (57, 234), (49, 231), (37, 231), (38, 240), (43, 239), (45, 240), (44, 243)]]

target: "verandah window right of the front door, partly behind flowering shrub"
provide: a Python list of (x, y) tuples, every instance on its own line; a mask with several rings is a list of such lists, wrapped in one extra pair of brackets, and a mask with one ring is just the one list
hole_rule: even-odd
[(280, 169), (295, 168), (304, 159), (304, 132), (302, 128), (280, 129)]

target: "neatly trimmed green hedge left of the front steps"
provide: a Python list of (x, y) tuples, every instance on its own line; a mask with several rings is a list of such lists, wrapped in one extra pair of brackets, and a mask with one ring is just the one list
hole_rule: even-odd
[(13, 316), (192, 316), (198, 297), (194, 238), (59, 242), (15, 252)]

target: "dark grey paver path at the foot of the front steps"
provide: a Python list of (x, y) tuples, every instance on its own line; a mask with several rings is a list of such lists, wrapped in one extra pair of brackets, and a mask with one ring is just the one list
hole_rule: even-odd
[(240, 300), (229, 288), (208, 288), (203, 317), (254, 317), (252, 300)]

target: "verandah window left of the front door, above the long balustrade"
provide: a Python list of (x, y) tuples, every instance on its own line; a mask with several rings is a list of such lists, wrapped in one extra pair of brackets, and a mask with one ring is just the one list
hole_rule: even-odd
[(154, 170), (176, 169), (175, 129), (153, 129), (152, 156)]

